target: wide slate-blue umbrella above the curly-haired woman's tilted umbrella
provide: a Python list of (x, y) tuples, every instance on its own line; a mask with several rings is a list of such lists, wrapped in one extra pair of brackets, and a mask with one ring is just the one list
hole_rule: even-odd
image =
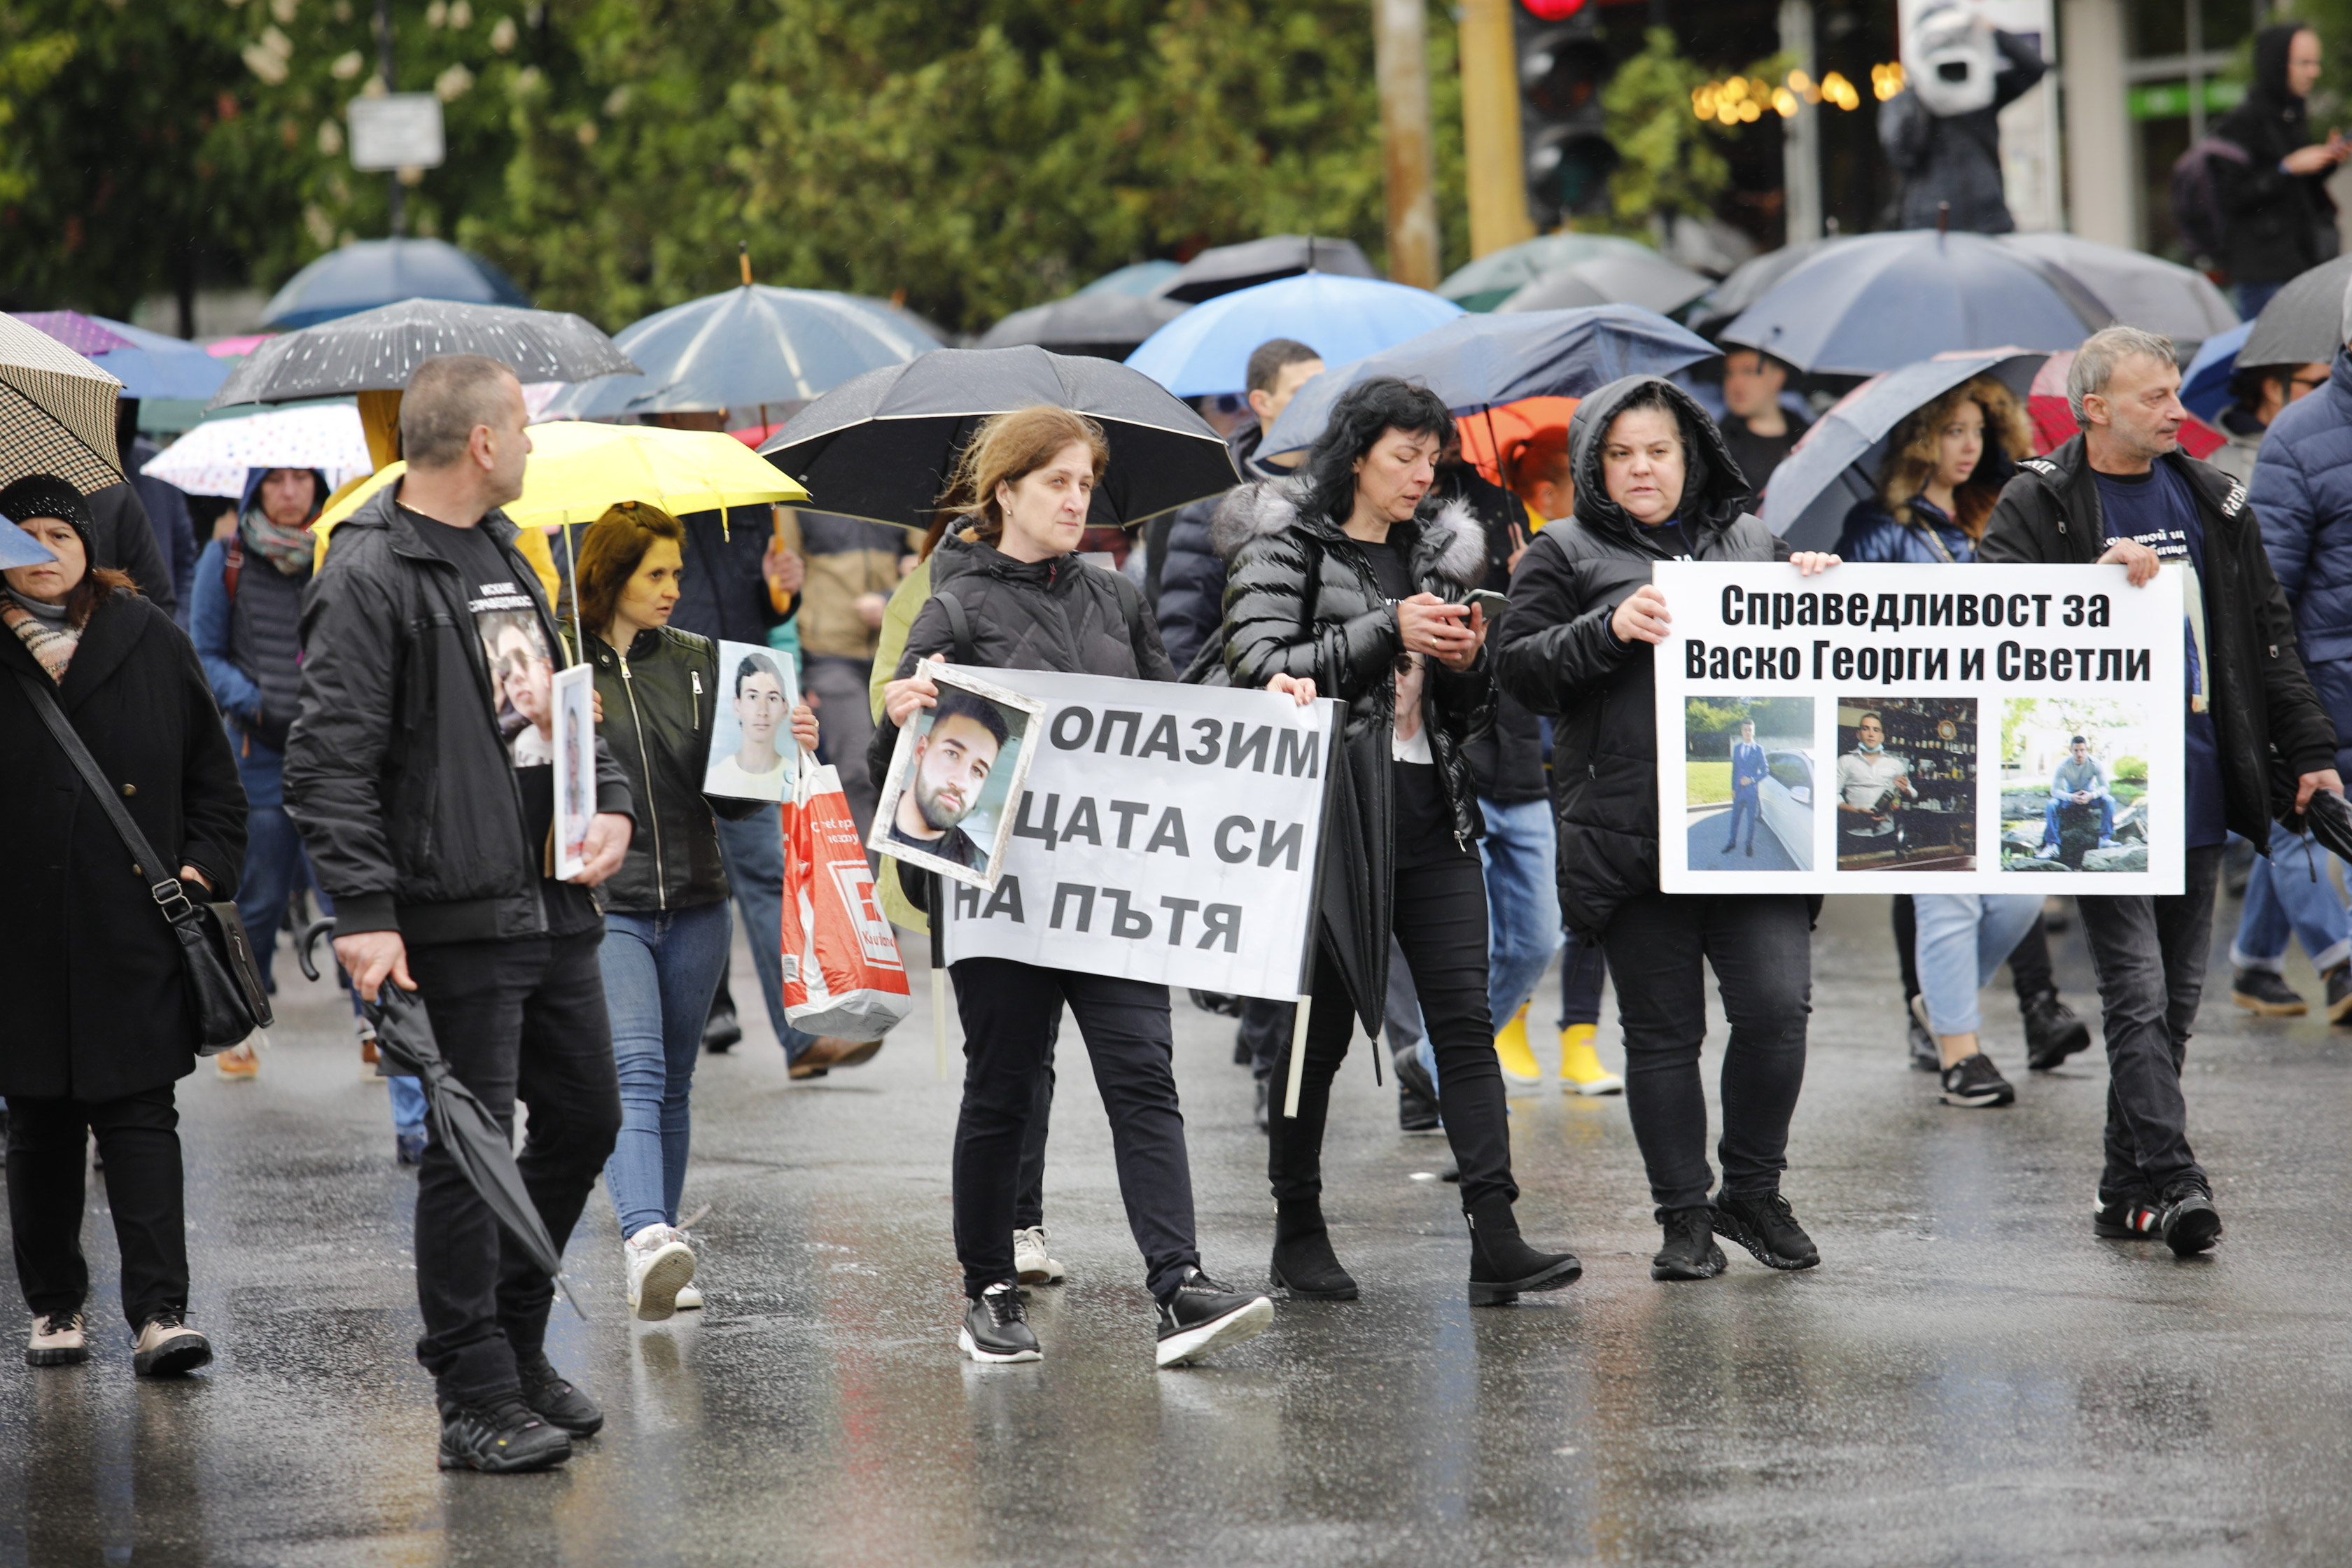
[(1797, 369), (1875, 376), (2009, 343), (2056, 353), (2110, 320), (2060, 266), (1985, 235), (1910, 228), (1823, 244), (1722, 336)]

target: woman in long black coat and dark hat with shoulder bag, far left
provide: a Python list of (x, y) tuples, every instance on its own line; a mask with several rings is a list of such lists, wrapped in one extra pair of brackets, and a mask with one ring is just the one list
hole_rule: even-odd
[(120, 785), (132, 820), (195, 898), (235, 896), (245, 788), (188, 635), (127, 576), (89, 564), (82, 496), (64, 480), (19, 480), (0, 491), (0, 515), (56, 555), (54, 564), (7, 571), (0, 592), (0, 823), (19, 851), (0, 870), (0, 1095), (9, 1105), (16, 1279), (33, 1309), (26, 1361), (89, 1356), (80, 1234), (87, 1135), (96, 1133), (134, 1366), (141, 1375), (186, 1373), (207, 1363), (212, 1347), (186, 1326), (172, 1084), (195, 1072), (195, 1027), (179, 940), (26, 684), (64, 708)]

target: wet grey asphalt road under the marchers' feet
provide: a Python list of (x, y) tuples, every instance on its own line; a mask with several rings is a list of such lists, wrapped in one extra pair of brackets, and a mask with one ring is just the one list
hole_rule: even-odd
[[(2216, 943), (2225, 943), (2227, 922)], [(2310, 971), (2291, 978), (2312, 992)], [(736, 973), (748, 976), (739, 954)], [(955, 1352), (948, 1133), (917, 1011), (793, 1086), (767, 1034), (706, 1058), (687, 1208), (710, 1309), (630, 1324), (602, 1192), (557, 1366), (612, 1410), (567, 1472), (442, 1476), (412, 1359), (409, 1178), (348, 1011), (294, 980), (256, 1084), (181, 1088), (195, 1321), (219, 1361), (134, 1385), (92, 1190), (89, 1366), (0, 1371), (0, 1563), (2336, 1563), (2352, 1554), (2352, 1030), (2251, 1023), (2216, 969), (2192, 1133), (2218, 1255), (2089, 1234), (2103, 1067), (2009, 1112), (1903, 1065), (1882, 898), (1832, 900), (1788, 1192), (1823, 1267), (1733, 1251), (1651, 1284), (1621, 1100), (1515, 1100), (1538, 1239), (1588, 1272), (1463, 1305), (1442, 1143), (1362, 1053), (1329, 1211), (1355, 1305), (1155, 1373), (1108, 1135), (1065, 1053), (1037, 1293), (1047, 1361)], [(2079, 936), (2060, 978), (2089, 994)], [(1557, 990), (1543, 992), (1550, 1006)], [(1207, 1262), (1270, 1241), (1230, 1023), (1178, 1001)], [(1990, 1048), (2020, 1067), (2006, 980)], [(1604, 1025), (1602, 1056), (1618, 1060)], [(1075, 1044), (1075, 1039), (1073, 1039)], [(1545, 1053), (1548, 1056), (1548, 1053)], [(2077, 1058), (2082, 1060), (2082, 1058)], [(1712, 1053), (1710, 1053), (1712, 1067)], [(2018, 1074), (2025, 1077), (2023, 1072)]]

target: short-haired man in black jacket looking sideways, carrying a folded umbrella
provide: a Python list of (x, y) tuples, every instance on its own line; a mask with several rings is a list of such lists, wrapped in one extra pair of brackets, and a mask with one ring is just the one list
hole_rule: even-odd
[[(555, 882), (550, 679), (564, 658), (515, 524), (532, 451), (522, 386), (442, 355), (409, 378), (409, 473), (334, 534), (303, 592), (287, 809), (334, 896), (334, 957), (362, 997), (423, 997), (459, 1081), (510, 1124), (557, 1251), (621, 1128), (590, 886), (621, 867), (628, 783), (597, 743), (588, 865)], [(416, 1178), (416, 1359), (440, 1385), (442, 1469), (546, 1469), (604, 1413), (541, 1347), (553, 1286), (440, 1140)]]

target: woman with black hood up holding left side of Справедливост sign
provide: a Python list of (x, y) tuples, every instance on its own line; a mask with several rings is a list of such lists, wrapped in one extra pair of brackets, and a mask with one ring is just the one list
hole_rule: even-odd
[[(1576, 515), (1543, 529), (1510, 578), (1498, 679), (1557, 715), (1552, 790), (1559, 907), (1599, 938), (1625, 1030), (1632, 1119), (1665, 1246), (1651, 1279), (1724, 1272), (1715, 1237), (1769, 1267), (1820, 1262), (1780, 1197), (1788, 1121), (1804, 1084), (1811, 917), (1799, 893), (1658, 891), (1658, 722), (1653, 644), (1670, 611), (1651, 567), (1672, 559), (1788, 559), (1806, 576), (1835, 555), (1799, 552), (1745, 510), (1748, 482), (1715, 421), (1658, 376), (1625, 376), (1569, 423)], [(1705, 966), (1731, 1020), (1724, 1046), (1724, 1185), (1710, 1199)]]

